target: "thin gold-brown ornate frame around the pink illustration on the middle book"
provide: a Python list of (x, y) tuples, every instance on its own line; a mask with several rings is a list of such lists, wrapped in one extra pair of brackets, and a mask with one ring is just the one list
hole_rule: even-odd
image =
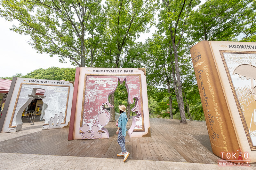
[[(83, 112), (84, 112), (84, 97), (85, 97), (85, 89), (86, 89), (86, 78), (87, 76), (139, 76), (140, 79), (140, 103), (141, 103), (141, 118), (142, 118), (142, 129), (134, 129), (133, 131), (139, 131), (144, 132), (144, 114), (143, 114), (143, 100), (142, 100), (142, 85), (141, 85), (141, 75), (140, 74), (85, 74), (84, 75), (84, 92), (83, 92), (83, 105), (82, 105), (82, 111), (81, 111), (81, 121), (80, 121), (80, 127), (83, 126)], [(99, 131), (104, 133), (104, 131)], [(81, 130), (79, 133), (83, 133)]]

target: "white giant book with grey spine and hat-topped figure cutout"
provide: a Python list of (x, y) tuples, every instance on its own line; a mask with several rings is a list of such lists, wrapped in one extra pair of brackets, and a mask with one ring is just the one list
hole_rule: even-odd
[[(43, 92), (36, 95), (36, 91)], [(74, 86), (72, 82), (33, 78), (12, 78), (4, 111), (0, 119), (0, 132), (16, 132), (22, 128), (22, 113), (34, 99), (43, 100), (41, 110), (44, 125), (42, 129), (68, 127)], [(31, 111), (30, 119), (35, 119)], [(31, 120), (31, 122), (33, 122)]]

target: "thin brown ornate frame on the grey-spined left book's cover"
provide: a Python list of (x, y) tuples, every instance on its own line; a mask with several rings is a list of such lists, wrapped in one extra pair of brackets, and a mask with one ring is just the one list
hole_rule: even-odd
[[(67, 104), (66, 104), (66, 110), (65, 110), (65, 117), (64, 117), (64, 122), (61, 123), (61, 124), (66, 124), (66, 117), (67, 117), (67, 110), (68, 110), (68, 99), (69, 99), (69, 92), (70, 92), (70, 86), (69, 85), (45, 85), (45, 84), (35, 84), (35, 83), (20, 83), (20, 88), (19, 88), (19, 92), (18, 92), (16, 101), (15, 101), (14, 108), (13, 108), (12, 118), (11, 118), (11, 121), (10, 121), (10, 124), (9, 124), (9, 128), (16, 128), (17, 127), (17, 126), (12, 126), (12, 121), (13, 121), (14, 114), (15, 114), (15, 111), (16, 111), (16, 107), (17, 107), (17, 104), (18, 104), (18, 100), (19, 100), (19, 97), (20, 97), (20, 91), (21, 91), (22, 85), (43, 85), (43, 86), (68, 87), (68, 97), (67, 97)], [(44, 125), (49, 125), (49, 123), (46, 123)]]

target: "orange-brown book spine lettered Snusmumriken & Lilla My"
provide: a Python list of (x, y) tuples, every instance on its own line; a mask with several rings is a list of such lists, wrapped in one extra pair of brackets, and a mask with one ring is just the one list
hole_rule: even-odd
[[(239, 144), (223, 93), (209, 41), (190, 49), (196, 81), (203, 106), (212, 152), (222, 159), (234, 160)], [(231, 157), (229, 158), (229, 154)], [(227, 156), (228, 154), (228, 156)]]

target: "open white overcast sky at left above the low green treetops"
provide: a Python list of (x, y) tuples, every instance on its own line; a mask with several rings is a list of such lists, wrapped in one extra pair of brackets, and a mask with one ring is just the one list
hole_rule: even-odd
[(33, 70), (52, 66), (75, 68), (68, 60), (67, 63), (60, 63), (57, 56), (36, 53), (36, 50), (27, 43), (30, 36), (10, 31), (12, 22), (0, 17), (0, 25), (0, 77), (11, 77), (16, 73), (26, 75)]

